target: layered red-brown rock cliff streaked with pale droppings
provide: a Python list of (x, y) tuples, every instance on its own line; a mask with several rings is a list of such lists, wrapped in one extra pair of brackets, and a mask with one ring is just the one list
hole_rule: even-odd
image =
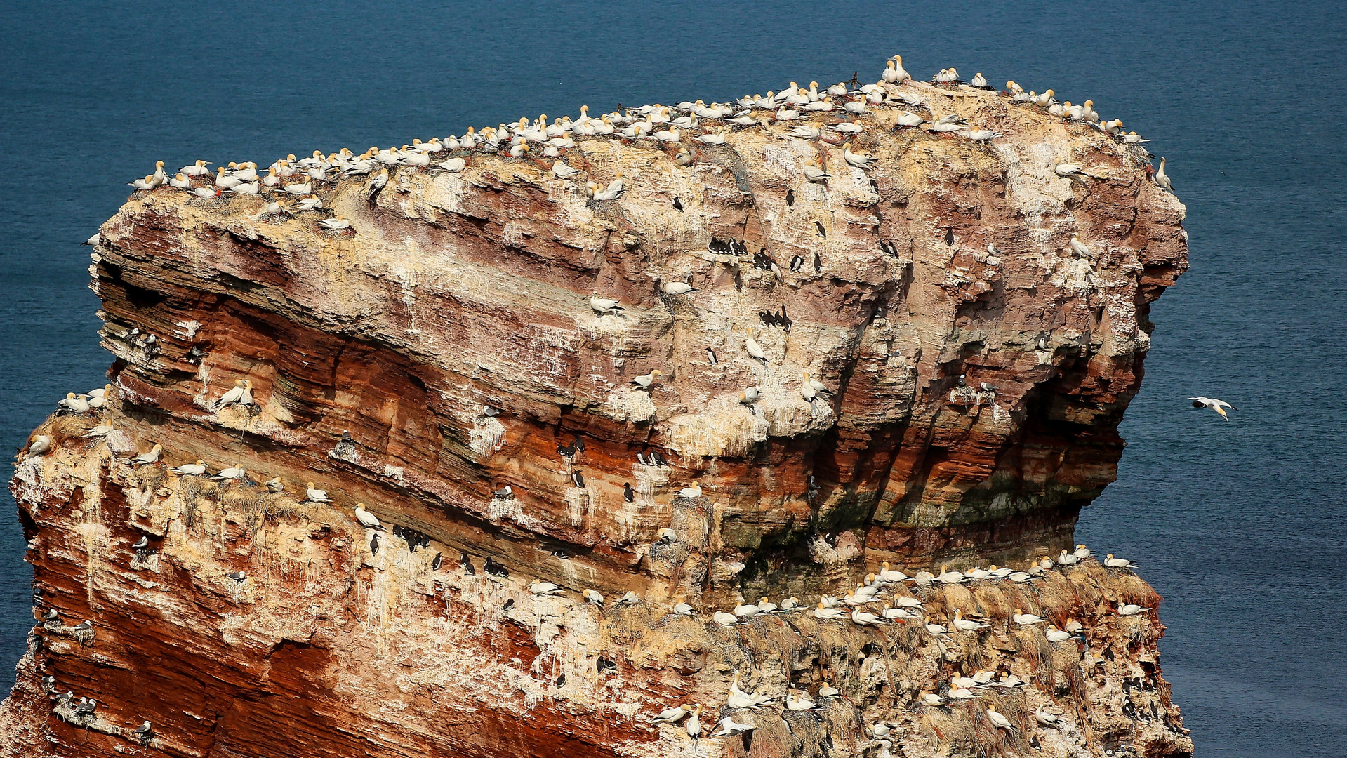
[[(36, 615), (59, 618), (20, 664), (9, 753), (112, 755), (145, 719), (171, 755), (1191, 751), (1162, 626), (1115, 610), (1158, 598), (1095, 559), (881, 591), (990, 623), (951, 638), (921, 609), (710, 619), (741, 594), (811, 606), (882, 560), (940, 574), (1070, 549), (1114, 478), (1149, 303), (1187, 265), (1183, 206), (1140, 148), (990, 92), (886, 88), (924, 108), (807, 121), (861, 124), (866, 168), (775, 123), (723, 145), (686, 133), (686, 158), (575, 137), (568, 180), (471, 151), (383, 188), (314, 182), (349, 230), (261, 197), (136, 193), (90, 268), (110, 400), (43, 424), (53, 450), (11, 485)], [(1004, 136), (898, 127), (904, 110)], [(826, 182), (804, 176), (814, 158)], [(582, 190), (616, 178), (616, 201)], [(253, 405), (217, 411), (237, 380)], [(113, 431), (84, 436), (96, 424)], [(155, 443), (163, 460), (133, 466)], [(195, 459), (247, 477), (167, 471)], [(273, 477), (284, 491), (259, 483)], [(641, 602), (614, 605), (628, 591)], [(1080, 640), (1048, 642), (1016, 609), (1079, 619)], [(955, 670), (998, 668), (1028, 687), (920, 705)], [(700, 703), (710, 731), (735, 675), (776, 697), (733, 711), (748, 735), (698, 747), (649, 724)], [(823, 681), (841, 695), (781, 710)], [(65, 692), (100, 705), (78, 715)]]

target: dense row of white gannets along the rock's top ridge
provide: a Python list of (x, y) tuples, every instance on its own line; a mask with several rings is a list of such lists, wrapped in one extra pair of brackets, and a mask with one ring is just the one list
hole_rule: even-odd
[[(614, 110), (598, 117), (590, 116), (589, 106), (582, 105), (577, 118), (563, 116), (550, 121), (544, 113), (532, 121), (520, 118), (516, 123), (502, 123), (481, 129), (469, 127), (462, 136), (432, 137), (427, 141), (416, 139), (412, 140), (412, 144), (396, 148), (370, 147), (358, 155), (348, 148), (327, 155), (323, 155), (322, 151), (314, 151), (310, 156), (300, 159), (288, 155), (273, 162), (265, 170), (252, 162), (229, 163), (211, 170), (209, 162), (197, 160), (190, 166), (183, 166), (175, 175), (170, 176), (160, 160), (155, 163), (154, 172), (131, 182), (131, 186), (136, 190), (167, 187), (202, 198), (265, 195), (269, 202), (263, 210), (263, 215), (279, 217), (303, 211), (325, 211), (323, 202), (315, 188), (345, 176), (369, 176), (369, 187), (373, 193), (383, 190), (388, 184), (391, 171), (396, 171), (399, 167), (459, 172), (467, 167), (467, 159), (474, 153), (562, 159), (566, 151), (575, 147), (577, 139), (652, 140), (655, 144), (671, 145), (671, 149), (678, 149), (678, 163), (687, 166), (694, 160), (688, 145), (722, 145), (726, 144), (726, 136), (735, 129), (780, 124), (789, 127), (789, 131), (784, 133), (787, 137), (818, 139), (832, 144), (843, 143), (842, 160), (847, 166), (866, 168), (874, 162), (874, 156), (865, 151), (851, 149), (850, 141), (845, 140), (865, 131), (863, 117), (873, 109), (898, 108), (897, 124), (904, 128), (924, 128), (947, 136), (962, 135), (973, 141), (989, 141), (1001, 136), (991, 129), (968, 127), (962, 117), (955, 114), (932, 118), (929, 108), (916, 90), (884, 86), (902, 85), (911, 81), (912, 75), (902, 69), (902, 58), (894, 55), (886, 62), (885, 71), (880, 82), (876, 83), (859, 85), (853, 79), (850, 83), (839, 82), (820, 89), (818, 82), (810, 82), (804, 88), (792, 81), (780, 92), (768, 90), (766, 96), (744, 96), (733, 102), (706, 104), (696, 100), (683, 101), (674, 106), (653, 104), (621, 112)], [(971, 85), (964, 85), (954, 69), (942, 70), (933, 82), (938, 86), (954, 89), (991, 89), (981, 73), (974, 77)], [(1121, 120), (1102, 121), (1094, 110), (1091, 100), (1087, 100), (1084, 105), (1072, 105), (1070, 101), (1057, 102), (1051, 89), (1043, 96), (1034, 92), (1026, 93), (1013, 81), (1006, 82), (1006, 94), (1012, 102), (1039, 105), (1068, 121), (1088, 123), (1118, 141), (1138, 145), (1148, 141), (1137, 136), (1136, 132), (1123, 133)], [(819, 114), (838, 114), (843, 118), (835, 123), (810, 121), (811, 116)], [(577, 179), (581, 170), (564, 160), (555, 160), (552, 172), (559, 179), (575, 179), (578, 188), (595, 201), (616, 201), (622, 197), (626, 188), (621, 176), (606, 184)], [(828, 178), (823, 159), (819, 156), (807, 162), (804, 174), (811, 182), (826, 182)], [(1161, 187), (1172, 190), (1164, 172), (1164, 160), (1154, 174), (1154, 179)], [(353, 232), (350, 221), (335, 215), (319, 218), (318, 225), (331, 232)]]

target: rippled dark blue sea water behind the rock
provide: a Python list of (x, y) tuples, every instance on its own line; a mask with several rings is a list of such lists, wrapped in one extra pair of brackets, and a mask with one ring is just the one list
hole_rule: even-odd
[[(4, 1), (0, 19), (5, 450), (102, 384), (78, 242), (156, 159), (265, 166), (582, 102), (873, 81), (894, 53), (919, 77), (1092, 98), (1169, 158), (1192, 271), (1154, 307), (1118, 482), (1080, 540), (1165, 596), (1161, 662), (1199, 755), (1347, 755), (1347, 7)], [(31, 627), (23, 548), (9, 502), (0, 661)]]

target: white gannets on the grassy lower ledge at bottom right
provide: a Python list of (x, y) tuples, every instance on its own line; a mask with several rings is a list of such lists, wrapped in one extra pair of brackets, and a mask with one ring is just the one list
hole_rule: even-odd
[[(915, 592), (916, 590), (968, 582), (1012, 582), (1022, 584), (1041, 579), (1048, 571), (1067, 570), (1070, 567), (1079, 565), (1084, 560), (1098, 559), (1086, 545), (1076, 545), (1076, 548), (1070, 552), (1063, 549), (1056, 559), (1043, 556), (1032, 561), (1024, 571), (990, 565), (987, 568), (979, 567), (967, 572), (959, 572), (950, 571), (948, 567), (940, 567), (939, 574), (919, 571), (915, 575), (908, 576), (902, 571), (890, 568), (888, 563), (882, 563), (880, 570), (867, 575), (866, 580), (857, 584), (854, 591), (847, 592), (842, 598), (823, 596), (819, 599), (818, 606), (810, 610), (804, 610), (804, 606), (801, 606), (797, 598), (785, 598), (780, 603), (772, 603), (766, 598), (762, 598), (757, 603), (745, 603), (741, 596), (733, 609), (714, 611), (711, 614), (711, 622), (729, 627), (768, 615), (800, 611), (810, 614), (819, 621), (845, 622), (846, 619), (850, 619), (851, 623), (857, 626), (878, 626), (912, 621), (913, 627), (921, 629), (938, 644), (943, 644), (950, 641), (955, 634), (977, 634), (985, 629), (991, 629), (997, 622), (989, 618), (968, 618), (963, 615), (960, 609), (955, 609), (954, 617), (944, 623), (938, 623), (932, 621), (924, 610), (925, 602), (917, 596)], [(1099, 560), (1099, 563), (1113, 570), (1130, 571), (1136, 568), (1136, 564), (1131, 561), (1114, 557), (1113, 553), (1109, 553), (1103, 560)], [(908, 586), (911, 586), (913, 591), (896, 591), (900, 587), (907, 588)], [(546, 587), (551, 591), (556, 590), (555, 584), (547, 583)], [(586, 596), (589, 596), (590, 592), (593, 591), (586, 590)], [(884, 594), (889, 594), (889, 596), (885, 598)], [(877, 607), (881, 605), (882, 607)], [(1117, 606), (1117, 613), (1121, 617), (1140, 615), (1149, 610), (1149, 607), (1142, 607), (1136, 603), (1125, 603), (1121, 600)], [(694, 615), (694, 610), (686, 603), (675, 606), (674, 613)], [(1059, 629), (1051, 619), (1037, 614), (1024, 613), (1020, 609), (1014, 609), (1014, 611), (1004, 619), (1002, 623), (1010, 629), (1043, 629), (1044, 637), (1053, 645), (1070, 641), (1083, 641), (1086, 631), (1084, 625), (1074, 618), (1065, 619), (1063, 626)], [(997, 677), (997, 672), (977, 672), (970, 677), (955, 672), (950, 677), (946, 693), (923, 693), (919, 699), (919, 704), (943, 707), (950, 703), (978, 697), (982, 692), (1018, 689), (1029, 684), (1028, 681), (1017, 677), (1008, 668), (1004, 668), (999, 673), (1001, 676)], [(777, 711), (812, 711), (820, 707), (823, 701), (838, 697), (839, 695), (841, 692), (832, 687), (830, 681), (824, 680), (814, 695), (806, 689), (787, 688), (785, 697), (777, 700), (773, 696), (764, 695), (760, 689), (754, 692), (745, 692), (741, 688), (740, 675), (735, 673), (734, 681), (730, 684), (729, 696), (725, 701), (725, 708), (731, 712), (718, 722), (717, 728), (710, 734), (710, 736), (731, 736), (734, 734), (756, 728), (753, 723), (740, 723), (734, 720), (735, 718), (744, 718), (740, 715), (741, 711), (752, 712), (758, 708), (772, 708)], [(700, 712), (700, 704), (680, 704), (652, 716), (651, 722), (672, 724), (679, 720), (688, 719), (687, 734), (688, 736), (696, 739), (702, 734), (702, 724), (699, 720)], [(1014, 728), (1005, 715), (995, 711), (994, 705), (987, 705), (986, 715), (991, 723), (999, 728)], [(1039, 708), (1034, 712), (1034, 719), (1043, 726), (1052, 726), (1056, 723), (1057, 716), (1047, 710)], [(888, 742), (892, 728), (893, 726), (888, 723), (866, 726), (867, 734), (880, 742)]]

